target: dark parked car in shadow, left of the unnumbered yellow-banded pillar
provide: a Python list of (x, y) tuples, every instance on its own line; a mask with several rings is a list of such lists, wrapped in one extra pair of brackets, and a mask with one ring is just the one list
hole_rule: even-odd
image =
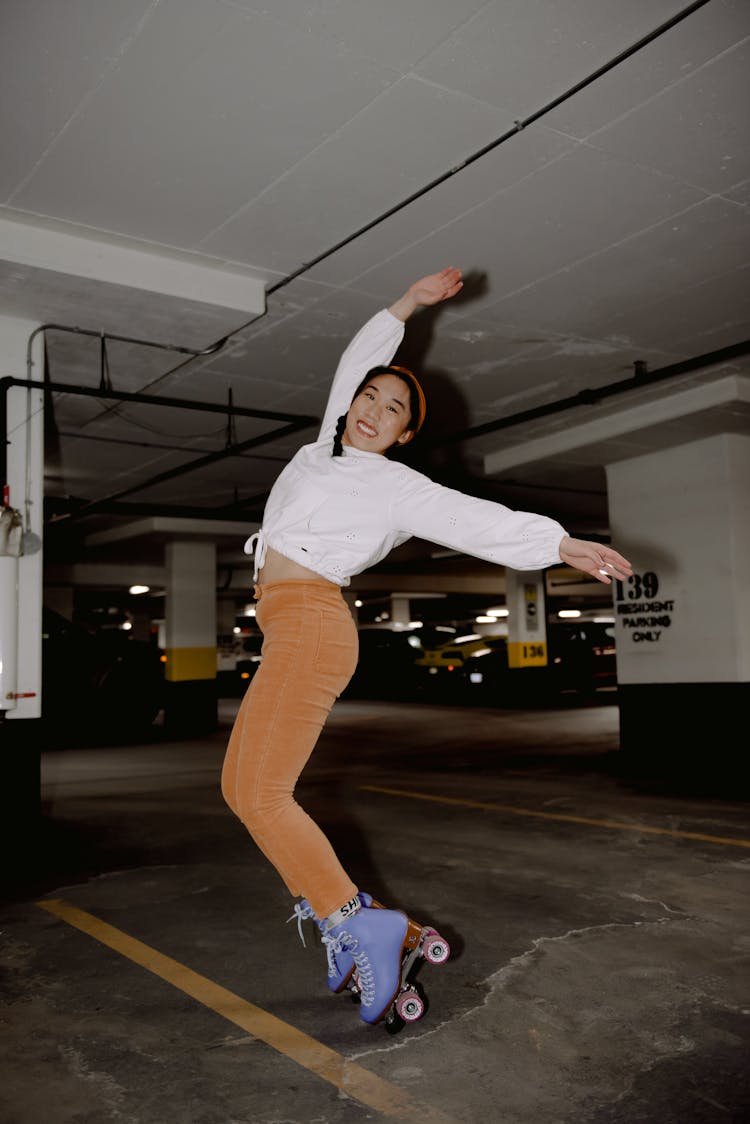
[(164, 653), (121, 629), (89, 632), (42, 617), (42, 718), (74, 734), (133, 736), (164, 706)]

